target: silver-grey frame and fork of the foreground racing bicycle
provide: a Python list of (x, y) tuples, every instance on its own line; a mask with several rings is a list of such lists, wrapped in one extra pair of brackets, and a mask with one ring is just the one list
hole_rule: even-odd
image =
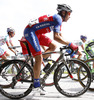
[[(25, 42), (26, 43), (26, 42)], [(26, 46), (27, 46), (27, 50), (28, 50), (28, 52), (29, 52), (29, 59), (27, 59), (27, 61), (29, 61), (30, 59), (30, 61), (31, 61), (31, 67), (33, 67), (33, 56), (31, 55), (31, 53), (30, 53), (30, 50), (29, 50), (29, 47), (28, 47), (28, 44), (26, 43)], [(43, 78), (41, 78), (40, 79), (40, 83), (43, 85), (43, 83), (45, 82), (45, 80), (47, 79), (47, 77), (51, 74), (51, 72), (57, 67), (57, 65), (61, 62), (61, 60), (62, 60), (62, 62), (64, 63), (64, 64), (66, 64), (66, 68), (67, 68), (67, 71), (68, 71), (68, 73), (69, 73), (69, 76), (71, 77), (71, 78), (73, 78), (72, 77), (72, 75), (71, 75), (71, 73), (70, 73), (70, 71), (69, 71), (69, 68), (67, 67), (67, 61), (64, 59), (64, 56), (67, 56), (67, 55), (70, 55), (70, 54), (64, 54), (62, 51), (63, 51), (63, 49), (66, 49), (66, 48), (60, 48), (60, 51), (52, 51), (52, 52), (47, 52), (47, 53), (42, 53), (43, 55), (47, 55), (47, 54), (60, 54), (60, 56), (58, 57), (58, 59), (56, 60), (56, 62), (51, 66), (51, 68), (45, 73), (45, 75), (43, 76)], [(73, 52), (73, 51), (72, 51)], [(18, 79), (18, 76), (20, 75), (20, 73), (23, 71), (23, 69), (24, 69), (24, 67), (25, 67), (25, 65), (23, 64), (23, 66), (21, 66), (21, 69), (20, 69), (20, 71), (17, 73), (17, 75), (16, 75), (16, 77), (14, 77), (13, 78), (13, 84), (15, 85), (15, 83), (16, 83), (16, 80)], [(20, 81), (24, 81), (24, 82), (31, 82), (31, 81), (27, 81), (27, 80), (20, 80)]]

